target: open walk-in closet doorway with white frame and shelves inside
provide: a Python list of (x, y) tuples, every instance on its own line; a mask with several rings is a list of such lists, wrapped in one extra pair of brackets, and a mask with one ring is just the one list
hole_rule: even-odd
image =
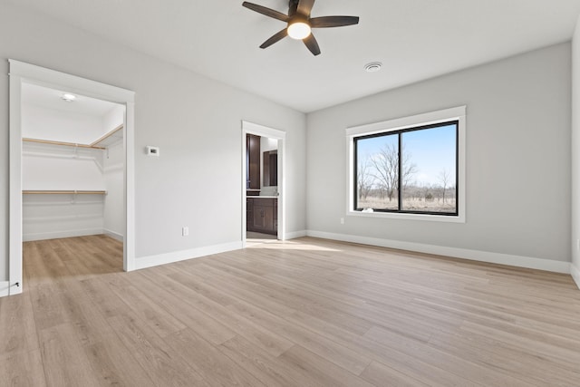
[(131, 270), (133, 92), (12, 60), (10, 86), (10, 294), (23, 243), (63, 276)]

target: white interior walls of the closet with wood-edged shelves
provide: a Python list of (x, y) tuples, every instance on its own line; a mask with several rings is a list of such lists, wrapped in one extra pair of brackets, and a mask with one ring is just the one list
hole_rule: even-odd
[(51, 103), (36, 98), (46, 92), (23, 90), (24, 241), (105, 232), (122, 240), (122, 130), (111, 131), (122, 126), (124, 107), (83, 110), (89, 99), (63, 102), (57, 91)]

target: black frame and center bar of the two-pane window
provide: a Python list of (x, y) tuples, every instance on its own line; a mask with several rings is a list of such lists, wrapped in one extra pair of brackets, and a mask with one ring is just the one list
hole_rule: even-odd
[[(402, 176), (401, 176), (401, 169), (402, 169), (402, 158), (401, 158), (401, 148), (402, 148), (402, 134), (410, 131), (425, 131), (434, 128), (445, 127), (449, 125), (455, 125), (455, 212), (442, 212), (442, 211), (417, 211), (417, 210), (409, 210), (409, 209), (401, 209), (402, 208), (402, 195), (403, 189), (402, 187)], [(362, 212), (363, 208), (358, 208), (358, 141), (359, 140), (366, 140), (372, 139), (376, 137), (386, 137), (386, 136), (398, 136), (398, 187), (397, 187), (397, 199), (398, 199), (398, 209), (389, 209), (389, 208), (372, 208), (373, 212), (379, 213), (393, 213), (393, 214), (418, 214), (418, 215), (435, 215), (435, 216), (444, 216), (444, 217), (459, 217), (459, 120), (449, 120), (449, 121), (441, 121), (437, 123), (430, 123), (430, 124), (420, 124), (414, 125), (410, 128), (405, 128), (401, 130), (394, 130), (394, 131), (380, 131), (377, 133), (372, 134), (362, 134), (360, 136), (353, 136), (353, 211)]]

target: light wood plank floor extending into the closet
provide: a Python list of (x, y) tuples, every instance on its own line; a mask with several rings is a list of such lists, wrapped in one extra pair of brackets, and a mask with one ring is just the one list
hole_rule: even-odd
[(132, 273), (24, 244), (0, 385), (579, 386), (570, 276), (301, 238)]

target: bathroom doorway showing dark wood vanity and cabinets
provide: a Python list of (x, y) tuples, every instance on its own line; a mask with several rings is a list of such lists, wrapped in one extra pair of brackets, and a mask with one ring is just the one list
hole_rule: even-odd
[(285, 239), (285, 132), (242, 121), (242, 241)]

